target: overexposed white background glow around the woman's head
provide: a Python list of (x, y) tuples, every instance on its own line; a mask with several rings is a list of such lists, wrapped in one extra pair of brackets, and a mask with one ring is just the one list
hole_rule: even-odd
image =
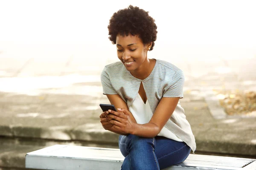
[[(149, 11), (156, 21), (152, 56), (187, 61), (256, 57), (254, 0), (0, 1), (0, 57), (76, 56), (81, 48), (88, 58), (112, 57), (109, 19), (130, 4)], [(49, 51), (58, 45), (68, 48)]]

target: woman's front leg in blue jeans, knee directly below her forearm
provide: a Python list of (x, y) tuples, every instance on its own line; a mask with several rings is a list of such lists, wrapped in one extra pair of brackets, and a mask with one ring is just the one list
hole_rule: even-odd
[(159, 170), (154, 144), (154, 138), (119, 136), (119, 148), (125, 156), (122, 170)]

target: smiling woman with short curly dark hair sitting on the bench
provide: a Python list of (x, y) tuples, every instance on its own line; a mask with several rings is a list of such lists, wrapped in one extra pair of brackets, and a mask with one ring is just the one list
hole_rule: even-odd
[(121, 62), (102, 71), (103, 94), (118, 111), (100, 114), (105, 130), (120, 134), (123, 170), (159, 170), (184, 161), (194, 152), (195, 137), (179, 99), (183, 72), (169, 62), (148, 59), (157, 26), (138, 7), (117, 11), (108, 26)]

